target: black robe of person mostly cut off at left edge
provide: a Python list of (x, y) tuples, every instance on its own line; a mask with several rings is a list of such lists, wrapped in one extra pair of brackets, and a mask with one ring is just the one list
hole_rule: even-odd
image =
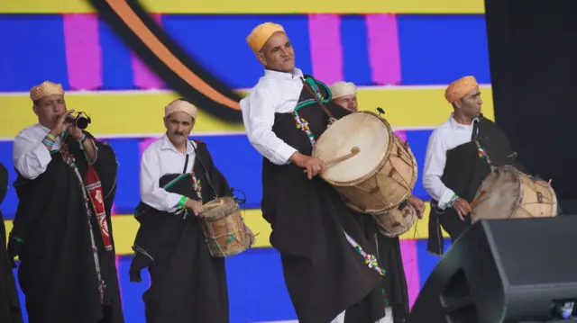
[[(0, 164), (0, 204), (4, 201), (7, 190), (8, 171)], [(0, 209), (0, 322), (23, 323), (12, 267), (12, 261), (6, 252), (6, 228)]]

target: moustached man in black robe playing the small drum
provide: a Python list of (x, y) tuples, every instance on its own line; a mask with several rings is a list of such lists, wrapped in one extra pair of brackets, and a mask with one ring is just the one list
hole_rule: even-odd
[(188, 140), (196, 122), (193, 104), (172, 101), (164, 109), (166, 134), (142, 154), (130, 276), (141, 282), (149, 268), (151, 287), (142, 297), (148, 323), (229, 321), (224, 258), (210, 255), (198, 215), (203, 203), (232, 193), (206, 143)]

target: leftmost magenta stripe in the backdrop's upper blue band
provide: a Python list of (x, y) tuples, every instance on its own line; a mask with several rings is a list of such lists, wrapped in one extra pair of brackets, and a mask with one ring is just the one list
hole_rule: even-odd
[(96, 90), (101, 87), (98, 16), (93, 13), (64, 14), (64, 43), (70, 88)]

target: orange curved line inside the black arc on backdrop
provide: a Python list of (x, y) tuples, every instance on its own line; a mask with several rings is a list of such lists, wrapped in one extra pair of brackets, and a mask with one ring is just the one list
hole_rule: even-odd
[(134, 13), (133, 8), (126, 3), (125, 0), (105, 0), (106, 3), (110, 5), (112, 10), (120, 16), (120, 18), (126, 23), (128, 28), (130, 28), (138, 38), (144, 42), (144, 44), (151, 49), (151, 51), (158, 57), (164, 64), (166, 64), (173, 72), (175, 72), (180, 78), (185, 80), (188, 85), (196, 88), (200, 93), (205, 94), (211, 100), (216, 103), (220, 103), (228, 106), (231, 109), (240, 111), (240, 103), (232, 100), (228, 96), (218, 92), (212, 86), (206, 84), (206, 82), (198, 77), (193, 71), (190, 70), (186, 65), (184, 65), (179, 58), (177, 58), (163, 43), (160, 41), (154, 33), (148, 29), (148, 27), (142, 22), (136, 13)]

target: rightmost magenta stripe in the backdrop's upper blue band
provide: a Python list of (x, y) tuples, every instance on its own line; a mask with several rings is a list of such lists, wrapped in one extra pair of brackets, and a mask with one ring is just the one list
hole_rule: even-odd
[(399, 85), (397, 16), (392, 13), (367, 14), (365, 22), (369, 38), (372, 81), (377, 85)]

